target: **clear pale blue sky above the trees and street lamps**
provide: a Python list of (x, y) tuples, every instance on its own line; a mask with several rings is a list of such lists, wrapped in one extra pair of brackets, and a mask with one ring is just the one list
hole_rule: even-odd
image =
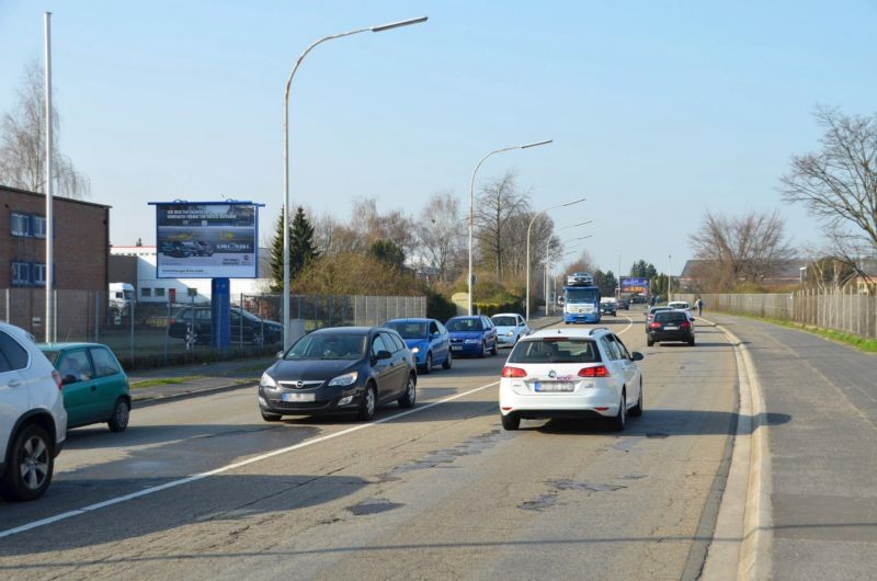
[[(708, 4), (708, 5), (707, 5)], [(877, 1), (148, 3), (0, 0), (0, 112), (42, 60), (54, 13), (60, 147), (113, 206), (111, 241), (155, 241), (150, 201), (283, 201), (283, 86), (317, 38), (430, 21), (317, 47), (291, 100), (291, 196), (339, 218), (374, 196), (417, 216), (434, 192), (468, 207), (509, 169), (533, 206), (603, 270), (638, 259), (677, 273), (709, 209), (779, 210), (802, 249), (821, 243), (778, 179), (819, 147), (817, 105), (873, 115)], [(672, 260), (670, 257), (672, 255)]]

